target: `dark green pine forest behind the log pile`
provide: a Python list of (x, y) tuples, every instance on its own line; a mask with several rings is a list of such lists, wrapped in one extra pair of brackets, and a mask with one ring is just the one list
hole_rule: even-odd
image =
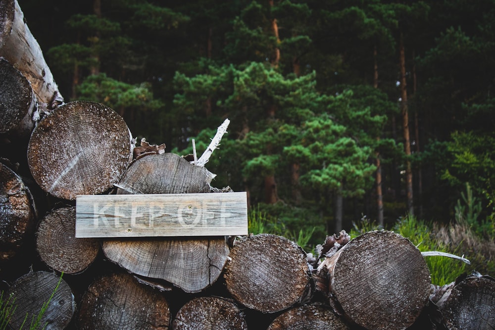
[[(65, 101), (289, 229), (494, 224), (495, 1), (19, 0)], [(471, 212), (471, 213), (469, 213)]]

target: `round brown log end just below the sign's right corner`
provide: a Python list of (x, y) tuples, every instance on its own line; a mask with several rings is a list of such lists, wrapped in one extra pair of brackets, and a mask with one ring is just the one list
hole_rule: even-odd
[(301, 301), (309, 289), (306, 253), (282, 236), (259, 234), (236, 242), (225, 282), (244, 306), (274, 313)]

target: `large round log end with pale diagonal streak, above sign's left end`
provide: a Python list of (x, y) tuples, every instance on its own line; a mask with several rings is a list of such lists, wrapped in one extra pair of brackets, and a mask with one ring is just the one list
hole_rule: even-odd
[(113, 187), (132, 159), (129, 129), (115, 111), (74, 101), (41, 120), (28, 145), (28, 165), (38, 185), (74, 200)]

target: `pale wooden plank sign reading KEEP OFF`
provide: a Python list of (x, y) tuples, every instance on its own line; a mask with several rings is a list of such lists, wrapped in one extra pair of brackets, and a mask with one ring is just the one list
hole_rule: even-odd
[(79, 195), (76, 237), (247, 235), (246, 192)]

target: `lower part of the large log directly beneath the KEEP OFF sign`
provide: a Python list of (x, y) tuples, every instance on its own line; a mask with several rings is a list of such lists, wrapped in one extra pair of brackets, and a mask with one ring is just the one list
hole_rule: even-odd
[(104, 240), (106, 257), (130, 272), (194, 293), (213, 284), (229, 255), (224, 236)]

